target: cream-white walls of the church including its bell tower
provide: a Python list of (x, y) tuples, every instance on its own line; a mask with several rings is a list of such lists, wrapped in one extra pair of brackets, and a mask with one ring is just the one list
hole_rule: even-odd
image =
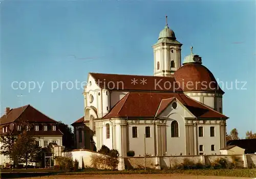
[[(154, 76), (172, 76), (181, 67), (181, 46), (166, 24), (166, 28), (159, 35), (159, 41), (153, 45)], [(129, 150), (134, 150), (135, 156), (143, 156), (145, 140), (146, 153), (152, 156), (212, 155), (220, 154), (220, 148), (225, 146), (226, 121), (210, 117), (198, 119), (177, 98), (158, 116), (152, 118), (128, 116), (102, 119), (132, 91), (110, 88), (104, 81), (97, 82), (89, 73), (88, 85), (83, 92), (84, 120), (90, 121), (89, 127), (94, 131), (92, 138), (97, 150), (106, 145), (110, 149), (117, 149), (123, 157)], [(222, 113), (221, 93), (189, 91), (184, 94), (207, 109)], [(177, 108), (173, 108), (173, 103), (177, 103)], [(145, 133), (147, 136), (144, 139)]]

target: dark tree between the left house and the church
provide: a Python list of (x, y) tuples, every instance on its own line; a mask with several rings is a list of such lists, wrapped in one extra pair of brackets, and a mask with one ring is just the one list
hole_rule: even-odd
[(71, 127), (58, 121), (58, 129), (63, 133), (62, 145), (65, 146), (65, 150), (74, 149), (74, 133), (72, 132)]

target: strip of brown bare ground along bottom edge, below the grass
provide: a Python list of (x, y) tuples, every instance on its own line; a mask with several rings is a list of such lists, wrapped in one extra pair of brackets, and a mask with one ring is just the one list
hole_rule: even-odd
[[(42, 176), (42, 177), (30, 177), (30, 179), (68, 179), (68, 178), (106, 178), (106, 179), (119, 179), (119, 178), (134, 178), (134, 179), (153, 179), (153, 178), (177, 178), (177, 179), (245, 179), (245, 177), (224, 177), (224, 176), (191, 176), (191, 175), (183, 175), (183, 174), (103, 174), (103, 175), (52, 175), (52, 176)], [(246, 178), (248, 179), (248, 178)]]

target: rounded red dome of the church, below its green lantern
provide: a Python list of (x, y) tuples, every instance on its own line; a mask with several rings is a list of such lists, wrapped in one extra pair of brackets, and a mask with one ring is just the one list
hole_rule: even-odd
[(174, 73), (174, 78), (184, 92), (208, 91), (224, 94), (210, 70), (199, 63), (183, 65)]

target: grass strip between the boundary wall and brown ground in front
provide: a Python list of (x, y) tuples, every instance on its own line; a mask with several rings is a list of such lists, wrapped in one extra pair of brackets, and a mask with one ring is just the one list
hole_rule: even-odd
[[(54, 169), (14, 169), (14, 170), (1, 170), (2, 178), (17, 178), (17, 177), (32, 177), (32, 176), (50, 176), (54, 178), (61, 178), (60, 175), (66, 175), (67, 177), (77, 177), (78, 175), (87, 176), (91, 175), (144, 175), (147, 174), (163, 174), (166, 175), (194, 175), (194, 176), (233, 176), (233, 177), (256, 177), (256, 169), (187, 169), (187, 170), (123, 170), (123, 171), (111, 171), (111, 170), (95, 170), (95, 169), (83, 169), (76, 172), (62, 172)], [(56, 176), (58, 175), (58, 176)], [(71, 176), (72, 175), (72, 176)], [(113, 178), (113, 177), (112, 177)]]

